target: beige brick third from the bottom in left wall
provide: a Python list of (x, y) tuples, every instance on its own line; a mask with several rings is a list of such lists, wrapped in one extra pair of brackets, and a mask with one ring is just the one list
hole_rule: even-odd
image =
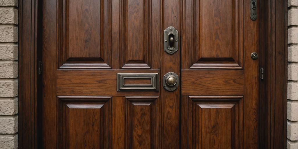
[(15, 115), (18, 113), (18, 97), (0, 98), (0, 115)]

